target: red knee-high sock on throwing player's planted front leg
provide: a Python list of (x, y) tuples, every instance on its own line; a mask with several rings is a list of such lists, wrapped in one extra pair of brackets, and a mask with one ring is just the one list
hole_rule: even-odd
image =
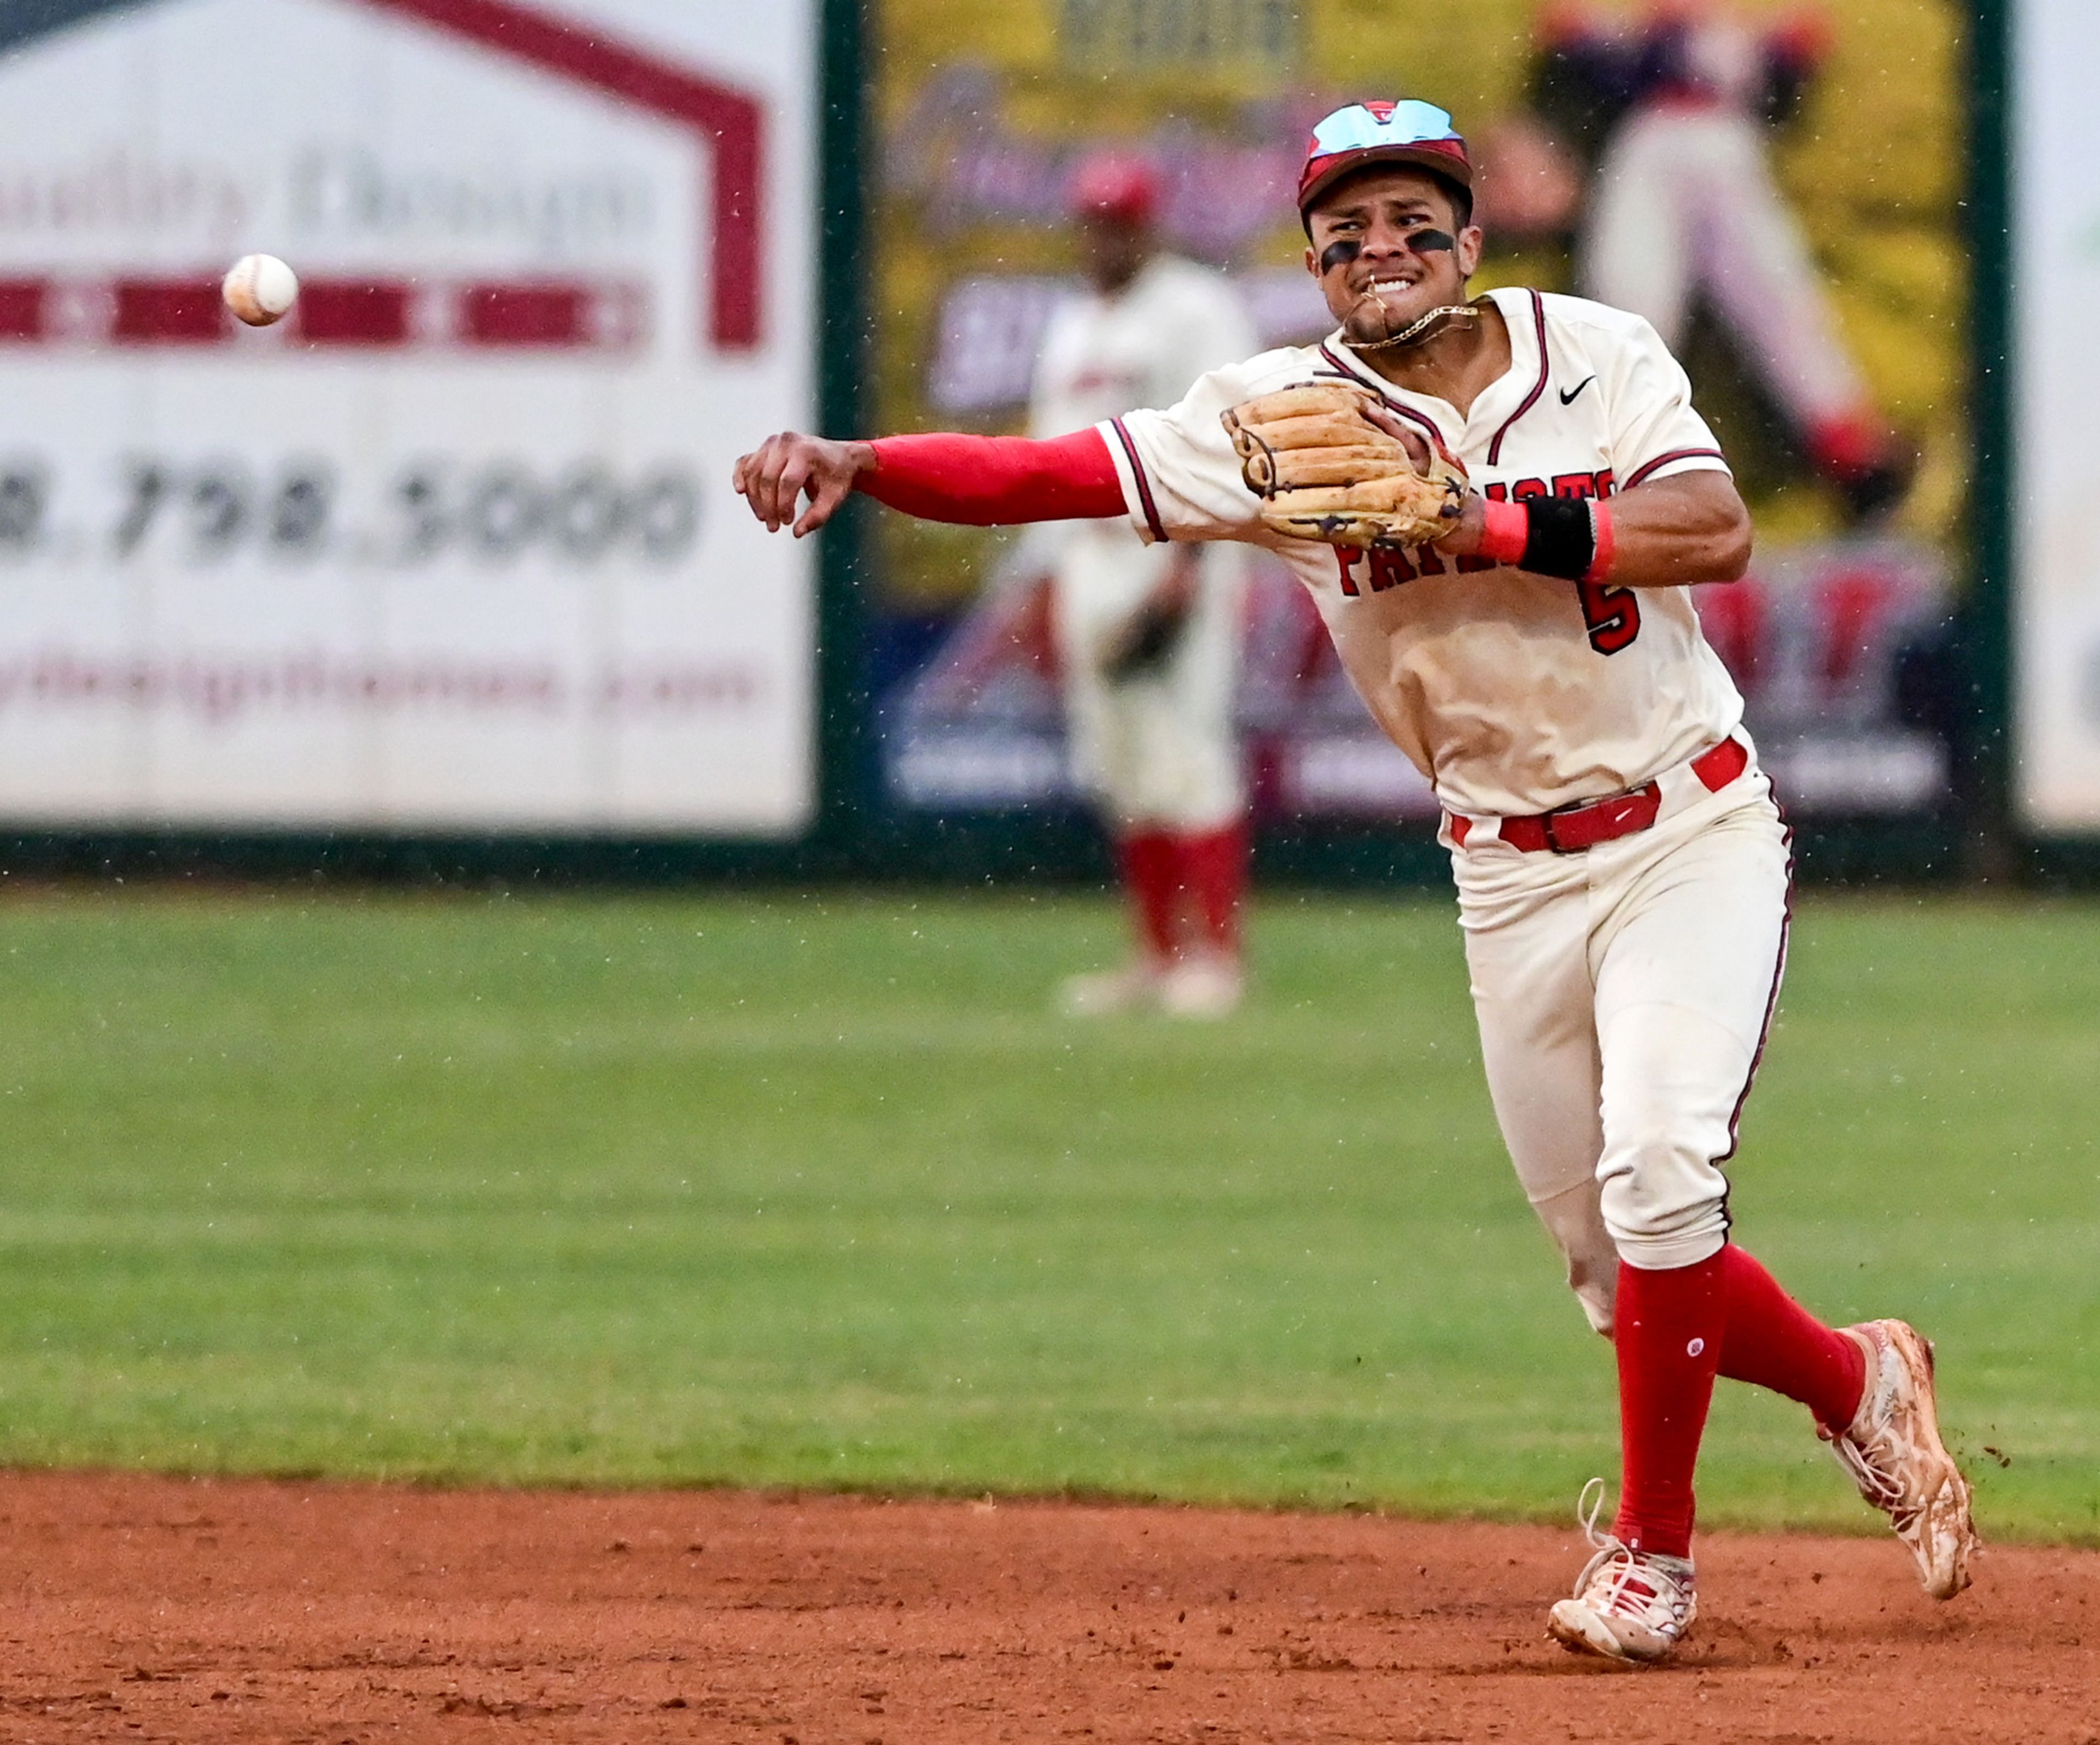
[(1693, 1552), (1693, 1470), (1728, 1321), (1726, 1249), (1697, 1266), (1644, 1273), (1619, 1262), (1619, 1518), (1636, 1552)]

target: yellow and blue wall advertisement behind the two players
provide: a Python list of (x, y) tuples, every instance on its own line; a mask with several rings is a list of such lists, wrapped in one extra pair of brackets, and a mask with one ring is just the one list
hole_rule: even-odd
[[(2060, 8), (2071, 29), (2090, 0)], [(1483, 166), (1476, 283), (1619, 302), (1686, 361), (1758, 523), (1751, 575), (1695, 598), (1789, 808), (1945, 813), (1970, 430), (1961, 17), (1476, 0), (1401, 31), (1348, 0), (882, 0), (874, 422), (1021, 428), (1048, 313), (1082, 283), (1073, 166), (1100, 147), (1153, 164), (1161, 244), (1218, 269), (1264, 342), (1321, 336), (1292, 202), (1306, 132), (1338, 101), (1426, 97)], [(876, 542), (890, 802), (1073, 800), (1029, 546), (890, 514)], [(1434, 796), (1275, 565), (1256, 565), (1245, 630), (1258, 815), (1426, 827)]]

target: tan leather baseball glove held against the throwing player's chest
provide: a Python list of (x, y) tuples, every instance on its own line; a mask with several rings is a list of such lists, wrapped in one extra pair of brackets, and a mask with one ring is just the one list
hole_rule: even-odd
[(1411, 454), (1369, 405), (1369, 388), (1306, 382), (1220, 414), (1264, 527), (1329, 546), (1426, 546), (1453, 529), (1466, 468), (1434, 441)]

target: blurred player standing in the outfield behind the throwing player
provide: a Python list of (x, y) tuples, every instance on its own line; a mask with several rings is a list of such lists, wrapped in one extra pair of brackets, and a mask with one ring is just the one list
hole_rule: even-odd
[[(1258, 349), (1231, 286), (1157, 246), (1151, 164), (1086, 157), (1071, 212), (1088, 292), (1050, 317), (1031, 435), (1172, 405), (1197, 376)], [(1121, 519), (1033, 538), (1052, 577), (1073, 773), (1115, 842), (1136, 934), (1121, 968), (1065, 985), (1065, 1010), (1222, 1016), (1243, 987), (1247, 796), (1233, 699), (1245, 561), (1218, 546), (1147, 546)]]

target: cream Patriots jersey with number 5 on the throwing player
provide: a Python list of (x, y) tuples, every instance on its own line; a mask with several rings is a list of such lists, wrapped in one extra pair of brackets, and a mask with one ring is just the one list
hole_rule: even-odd
[(1491, 296), (1512, 361), (1464, 418), (1392, 386), (1331, 338), (1214, 370), (1166, 412), (1098, 424), (1138, 533), (1243, 540), (1283, 556), (1380, 727), (1470, 817), (1638, 787), (1743, 718), (1688, 588), (1560, 582), (1432, 548), (1363, 552), (1262, 527), (1218, 414), (1336, 376), (1434, 433), (1489, 498), (1613, 496), (1726, 470), (1684, 370), (1638, 315), (1533, 290)]

